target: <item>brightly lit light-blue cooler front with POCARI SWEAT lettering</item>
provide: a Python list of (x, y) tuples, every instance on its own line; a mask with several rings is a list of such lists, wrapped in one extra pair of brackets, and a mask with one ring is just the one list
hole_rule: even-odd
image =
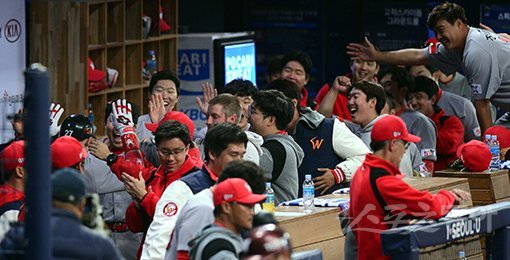
[(245, 79), (256, 84), (255, 43), (225, 46), (225, 82)]

